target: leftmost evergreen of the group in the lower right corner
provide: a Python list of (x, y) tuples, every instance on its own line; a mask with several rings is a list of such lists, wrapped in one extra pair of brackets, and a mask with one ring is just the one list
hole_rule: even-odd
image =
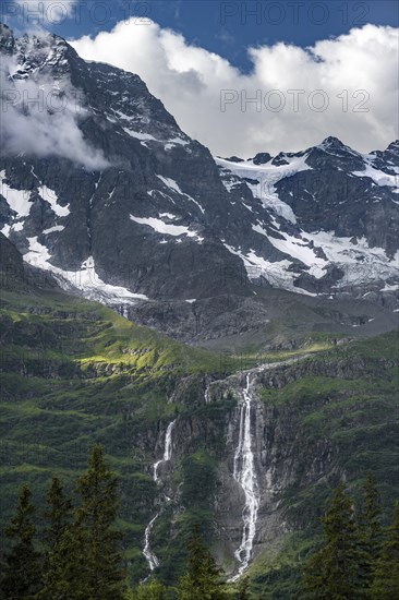
[(324, 545), (311, 556), (303, 579), (303, 598), (360, 600), (366, 597), (362, 574), (364, 551), (354, 520), (353, 503), (340, 482), (322, 519)]

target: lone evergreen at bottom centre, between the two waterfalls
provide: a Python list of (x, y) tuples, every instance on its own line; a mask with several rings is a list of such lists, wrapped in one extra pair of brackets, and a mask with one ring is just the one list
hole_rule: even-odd
[(179, 600), (225, 600), (227, 593), (220, 569), (201, 538), (200, 527), (193, 528), (189, 544), (188, 572), (179, 586)]

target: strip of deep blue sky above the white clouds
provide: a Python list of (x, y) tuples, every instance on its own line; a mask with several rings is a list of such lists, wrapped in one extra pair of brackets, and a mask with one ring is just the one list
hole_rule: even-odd
[[(56, 4), (62, 4), (63, 0)], [(22, 14), (24, 5), (17, 8)], [(108, 9), (105, 10), (104, 5)], [(12, 14), (12, 2), (2, 2), (3, 14)], [(396, 0), (280, 0), (280, 1), (216, 1), (216, 0), (81, 0), (71, 19), (50, 15), (47, 28), (66, 38), (95, 35), (110, 31), (125, 16), (148, 16), (161, 27), (182, 33), (190, 44), (198, 45), (227, 58), (241, 71), (251, 69), (246, 48), (286, 41), (301, 47), (318, 39), (338, 36), (365, 23), (398, 26), (399, 2)], [(138, 15), (138, 16), (137, 16)], [(9, 17), (9, 24), (24, 29), (23, 19)]]

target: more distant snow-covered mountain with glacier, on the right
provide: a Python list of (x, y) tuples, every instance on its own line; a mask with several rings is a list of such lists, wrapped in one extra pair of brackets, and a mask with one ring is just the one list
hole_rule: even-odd
[[(352, 286), (398, 281), (399, 142), (360, 154), (336, 137), (300, 153), (247, 160), (216, 158), (227, 189), (245, 182), (262, 208), (253, 229), (281, 253), (276, 279), (286, 289), (339, 293)], [(270, 229), (265, 227), (269, 215)], [(273, 283), (264, 256), (232, 249)]]

